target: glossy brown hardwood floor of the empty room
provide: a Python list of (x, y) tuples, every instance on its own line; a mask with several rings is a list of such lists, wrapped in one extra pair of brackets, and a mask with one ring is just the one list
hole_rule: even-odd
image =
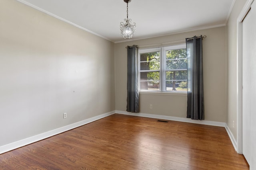
[(242, 170), (224, 127), (114, 114), (0, 154), (1, 170)]

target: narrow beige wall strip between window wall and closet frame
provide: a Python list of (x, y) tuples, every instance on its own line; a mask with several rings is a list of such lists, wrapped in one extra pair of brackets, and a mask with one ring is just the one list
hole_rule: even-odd
[(235, 139), (237, 137), (237, 18), (244, 7), (245, 2), (246, 0), (236, 0), (226, 26), (228, 73), (227, 125)]

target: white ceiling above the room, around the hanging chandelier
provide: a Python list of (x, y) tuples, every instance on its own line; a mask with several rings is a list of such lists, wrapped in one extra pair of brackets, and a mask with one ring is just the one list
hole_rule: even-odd
[(132, 39), (120, 35), (123, 0), (18, 0), (114, 43), (226, 25), (235, 0), (132, 0)]

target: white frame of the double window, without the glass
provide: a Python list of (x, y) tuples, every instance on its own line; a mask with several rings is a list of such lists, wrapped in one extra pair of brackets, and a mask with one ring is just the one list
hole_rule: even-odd
[[(184, 49), (186, 48), (186, 43), (178, 44), (178, 45), (170, 45), (165, 47), (153, 47), (153, 48), (146, 48), (146, 49), (138, 49), (138, 80), (139, 80), (139, 89), (140, 89), (140, 72), (144, 72), (143, 70), (140, 71), (140, 54), (141, 53), (150, 53), (160, 51), (160, 70), (152, 70), (152, 72), (159, 71), (159, 91), (155, 90), (140, 90), (140, 92), (167, 92), (167, 93), (181, 93), (184, 94), (186, 92), (181, 91), (166, 91), (166, 71), (170, 71), (166, 69), (166, 51), (167, 50), (174, 50), (174, 49)], [(187, 69), (180, 69), (180, 70), (187, 70)]]

